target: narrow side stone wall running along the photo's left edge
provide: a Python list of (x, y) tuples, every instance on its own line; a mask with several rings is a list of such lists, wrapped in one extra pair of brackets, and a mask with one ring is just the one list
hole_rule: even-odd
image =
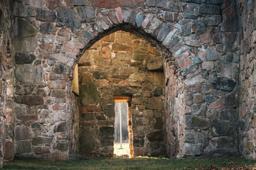
[(14, 158), (11, 24), (11, 1), (0, 1), (0, 167), (4, 159)]

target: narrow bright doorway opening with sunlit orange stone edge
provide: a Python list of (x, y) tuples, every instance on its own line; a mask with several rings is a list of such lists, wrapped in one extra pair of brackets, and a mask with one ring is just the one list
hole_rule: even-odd
[(114, 157), (133, 157), (129, 97), (114, 97)]

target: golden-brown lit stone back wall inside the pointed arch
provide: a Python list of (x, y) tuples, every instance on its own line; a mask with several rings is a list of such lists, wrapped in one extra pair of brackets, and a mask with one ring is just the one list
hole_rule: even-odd
[(78, 62), (79, 153), (113, 157), (114, 97), (129, 97), (134, 156), (166, 155), (164, 57), (142, 38), (117, 31)]

